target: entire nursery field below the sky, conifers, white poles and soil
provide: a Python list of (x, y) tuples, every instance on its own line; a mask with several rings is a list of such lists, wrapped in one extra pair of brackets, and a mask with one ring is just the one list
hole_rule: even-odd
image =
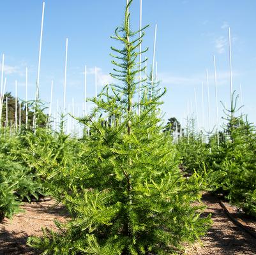
[[(87, 96), (82, 115), (40, 98), (41, 17), (35, 98), (7, 92), (4, 54), (0, 93), (0, 254), (225, 255), (256, 254), (256, 126), (232, 87), (229, 32), (229, 104), (216, 125), (199, 127), (196, 111), (183, 124), (165, 120), (167, 89), (153, 62), (142, 59), (149, 25), (132, 29), (133, 4), (111, 40), (114, 82)], [(6, 68), (7, 69), (7, 68)], [(204, 87), (202, 87), (204, 101)], [(88, 106), (90, 105), (90, 107)], [(204, 116), (204, 104), (202, 104)], [(202, 118), (203, 119), (203, 118)]]

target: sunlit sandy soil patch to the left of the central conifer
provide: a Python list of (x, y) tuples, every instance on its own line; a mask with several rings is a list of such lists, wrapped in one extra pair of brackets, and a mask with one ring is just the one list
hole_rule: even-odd
[(37, 254), (27, 247), (29, 236), (41, 235), (41, 228), (56, 229), (54, 221), (64, 222), (68, 216), (54, 200), (40, 203), (24, 203), (24, 212), (16, 214), (13, 219), (4, 219), (0, 223), (0, 255)]

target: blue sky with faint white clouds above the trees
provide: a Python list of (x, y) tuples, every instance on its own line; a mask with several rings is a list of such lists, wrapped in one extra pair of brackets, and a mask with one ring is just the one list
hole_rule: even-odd
[[(75, 101), (82, 111), (84, 65), (87, 65), (88, 96), (94, 95), (94, 66), (98, 68), (98, 90), (110, 81), (108, 73), (110, 39), (123, 20), (126, 0), (46, 0), (41, 52), (40, 96), (50, 101), (50, 82), (54, 80), (54, 108), (63, 97), (64, 52), (68, 45), (67, 104)], [(25, 98), (25, 69), (29, 69), (29, 98), (34, 98), (42, 1), (0, 1), (0, 54), (5, 55), (7, 91), (14, 92), (18, 80), (19, 97)], [(216, 55), (219, 101), (229, 104), (228, 27), (232, 33), (233, 86), (242, 85), (243, 112), (256, 122), (256, 1), (179, 0), (143, 1), (142, 23), (150, 24), (143, 41), (150, 50), (143, 57), (152, 62), (154, 25), (158, 24), (156, 61), (158, 78), (168, 91), (165, 118), (182, 121), (195, 111), (197, 91), (199, 126), (202, 125), (202, 82), (205, 119), (207, 118), (206, 68), (209, 71), (211, 126), (216, 123), (213, 54)], [(139, 25), (139, 0), (131, 8), (132, 27)], [(189, 107), (188, 107), (189, 106)], [(192, 110), (191, 110), (192, 106)], [(188, 109), (189, 108), (189, 109)], [(220, 115), (222, 105), (219, 103)], [(207, 121), (204, 127), (207, 129)]]

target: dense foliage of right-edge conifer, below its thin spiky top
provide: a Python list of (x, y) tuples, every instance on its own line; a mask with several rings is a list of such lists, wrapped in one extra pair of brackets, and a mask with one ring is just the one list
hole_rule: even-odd
[(246, 213), (256, 216), (255, 127), (234, 115), (229, 120), (225, 140), (213, 150), (207, 164), (213, 170), (227, 173), (221, 182), (227, 198)]

